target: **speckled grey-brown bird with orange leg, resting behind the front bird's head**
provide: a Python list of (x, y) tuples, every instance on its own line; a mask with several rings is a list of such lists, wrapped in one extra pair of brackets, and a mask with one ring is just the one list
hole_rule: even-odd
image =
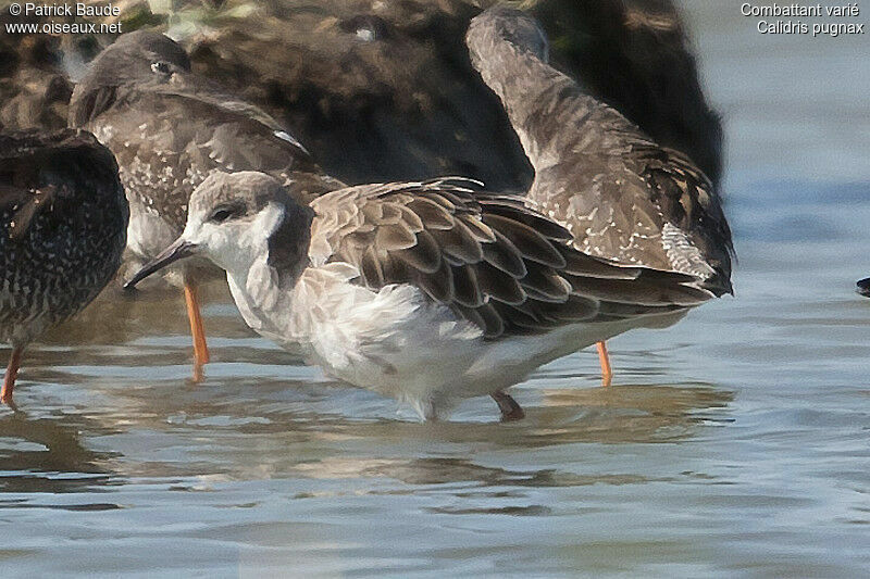
[[(301, 203), (343, 186), (266, 113), (191, 73), (185, 51), (156, 33), (123, 35), (94, 60), (70, 124), (115, 154), (130, 205), (127, 249), (139, 263), (178, 237), (190, 193), (214, 171), (269, 173)], [(192, 260), (170, 279), (184, 287), (196, 379), (209, 360), (197, 286), (215, 273)]]

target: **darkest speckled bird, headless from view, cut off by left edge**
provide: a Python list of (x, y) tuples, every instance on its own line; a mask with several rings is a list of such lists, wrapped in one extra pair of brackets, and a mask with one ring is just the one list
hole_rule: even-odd
[(97, 297), (117, 272), (129, 210), (112, 153), (84, 130), (0, 135), (0, 340), (22, 352)]

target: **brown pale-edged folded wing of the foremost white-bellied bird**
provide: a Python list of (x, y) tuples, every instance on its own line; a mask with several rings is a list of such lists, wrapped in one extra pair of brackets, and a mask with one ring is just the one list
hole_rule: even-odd
[(312, 203), (314, 265), (347, 262), (360, 284), (412, 284), (489, 339), (577, 322), (668, 313), (712, 298), (692, 276), (586, 255), (521, 198), (457, 179), (352, 187)]

